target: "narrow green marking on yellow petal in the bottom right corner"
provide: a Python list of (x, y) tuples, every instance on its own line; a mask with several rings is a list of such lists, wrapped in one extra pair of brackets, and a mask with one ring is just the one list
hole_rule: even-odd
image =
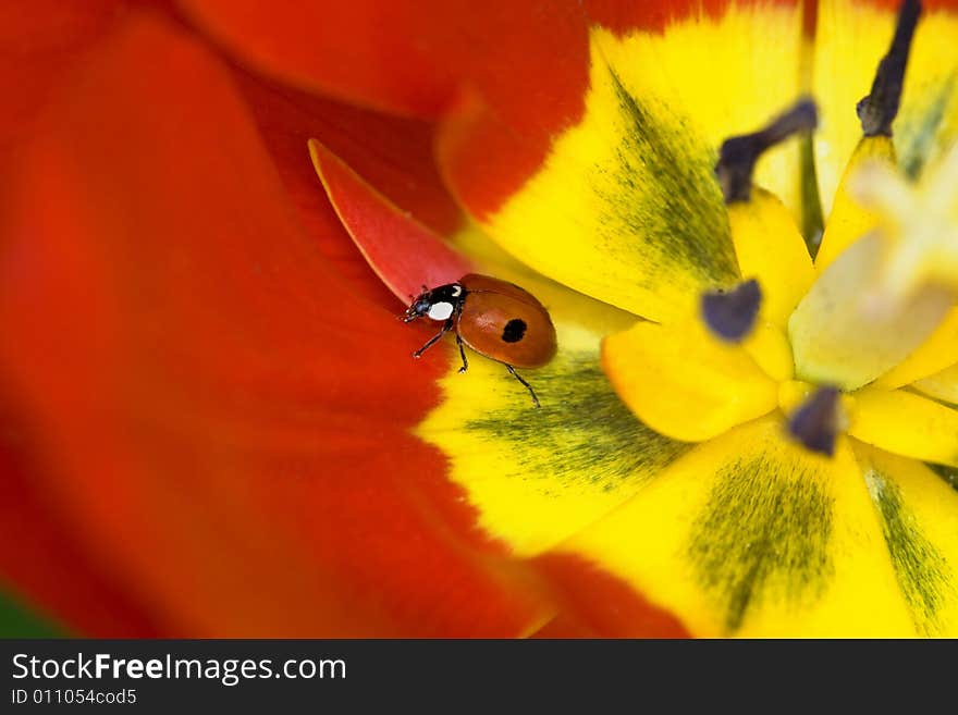
[(945, 557), (918, 528), (918, 520), (901, 502), (898, 488), (879, 471), (865, 479), (882, 517), (882, 533), (914, 626), (926, 636), (941, 629), (939, 609), (954, 597), (951, 570)]

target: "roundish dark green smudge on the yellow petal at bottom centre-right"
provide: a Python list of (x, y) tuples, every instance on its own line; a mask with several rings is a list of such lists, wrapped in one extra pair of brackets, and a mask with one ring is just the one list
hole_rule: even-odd
[(729, 632), (765, 599), (798, 605), (824, 592), (834, 575), (833, 500), (810, 469), (763, 458), (737, 463), (718, 474), (708, 505), (688, 552)]

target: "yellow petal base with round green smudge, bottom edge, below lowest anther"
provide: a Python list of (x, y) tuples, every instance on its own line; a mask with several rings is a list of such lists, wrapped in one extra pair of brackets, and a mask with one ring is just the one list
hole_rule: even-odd
[(828, 459), (782, 430), (766, 418), (698, 445), (561, 550), (697, 636), (913, 634), (847, 441)]

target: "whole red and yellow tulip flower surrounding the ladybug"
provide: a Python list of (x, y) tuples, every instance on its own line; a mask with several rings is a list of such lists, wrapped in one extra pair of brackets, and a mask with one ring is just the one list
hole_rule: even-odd
[[(45, 4), (0, 30), (17, 608), (958, 629), (954, 2)], [(412, 357), (468, 273), (548, 309), (541, 406)]]

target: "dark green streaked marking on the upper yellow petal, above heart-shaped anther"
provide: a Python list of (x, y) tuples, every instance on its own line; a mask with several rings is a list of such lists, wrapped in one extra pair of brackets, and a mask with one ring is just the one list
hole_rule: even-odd
[[(713, 175), (715, 148), (699, 146), (695, 133), (661, 126), (609, 67), (627, 125), (616, 151), (613, 192), (603, 198), (609, 215), (602, 224), (617, 231), (623, 222), (644, 236), (642, 252), (654, 248), (664, 262), (685, 263), (703, 283), (739, 279), (722, 192)], [(677, 131), (676, 131), (677, 130)], [(598, 190), (601, 190), (598, 188)], [(642, 257), (640, 257), (642, 258)]]

